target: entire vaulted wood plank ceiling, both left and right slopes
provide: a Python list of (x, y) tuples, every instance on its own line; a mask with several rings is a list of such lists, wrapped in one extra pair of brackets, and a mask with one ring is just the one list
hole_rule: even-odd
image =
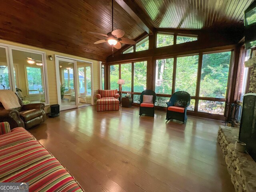
[[(201, 29), (243, 24), (253, 0), (115, 0), (114, 29), (136, 39), (154, 28)], [(0, 38), (96, 60), (112, 54), (88, 31), (111, 31), (111, 0), (1, 1)], [(115, 50), (116, 51), (116, 50)]]

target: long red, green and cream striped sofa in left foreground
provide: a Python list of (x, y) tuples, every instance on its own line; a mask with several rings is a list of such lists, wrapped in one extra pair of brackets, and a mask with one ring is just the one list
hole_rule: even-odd
[(83, 192), (62, 164), (24, 128), (0, 123), (0, 182), (28, 182), (31, 192)]

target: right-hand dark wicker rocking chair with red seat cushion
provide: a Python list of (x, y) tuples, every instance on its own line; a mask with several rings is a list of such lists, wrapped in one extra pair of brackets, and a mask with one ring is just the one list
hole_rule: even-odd
[(178, 91), (172, 94), (167, 102), (166, 120), (176, 119), (183, 123), (187, 120), (187, 108), (190, 105), (190, 94), (185, 91)]

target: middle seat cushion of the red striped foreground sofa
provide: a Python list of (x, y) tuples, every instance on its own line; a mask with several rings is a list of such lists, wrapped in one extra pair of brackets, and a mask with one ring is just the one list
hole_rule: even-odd
[(0, 180), (50, 157), (52, 155), (36, 140), (1, 149)]

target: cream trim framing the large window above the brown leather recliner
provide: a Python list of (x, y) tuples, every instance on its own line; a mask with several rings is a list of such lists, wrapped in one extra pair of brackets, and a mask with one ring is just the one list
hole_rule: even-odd
[(34, 53), (34, 54), (41, 54), (42, 55), (42, 63), (43, 63), (43, 81), (44, 81), (44, 88), (45, 88), (45, 102), (44, 104), (46, 106), (48, 106), (50, 104), (50, 100), (49, 100), (49, 91), (48, 91), (48, 76), (47, 76), (47, 62), (46, 62), (46, 52), (43, 51), (39, 51), (39, 50), (34, 50), (34, 49), (29, 49), (29, 48), (23, 48), (20, 46), (14, 46), (14, 45), (10, 45), (10, 44), (4, 44), (4, 43), (0, 43), (0, 46), (5, 46), (7, 47), (6, 51), (8, 50), (8, 52), (6, 52), (6, 56), (7, 56), (7, 65), (10, 69), (10, 89), (13, 92), (16, 92), (16, 88), (15, 88), (15, 80), (14, 80), (14, 63), (13, 63), (13, 58), (12, 58), (12, 50), (18, 50), (18, 51), (24, 51), (24, 52), (30, 52), (30, 53)]

